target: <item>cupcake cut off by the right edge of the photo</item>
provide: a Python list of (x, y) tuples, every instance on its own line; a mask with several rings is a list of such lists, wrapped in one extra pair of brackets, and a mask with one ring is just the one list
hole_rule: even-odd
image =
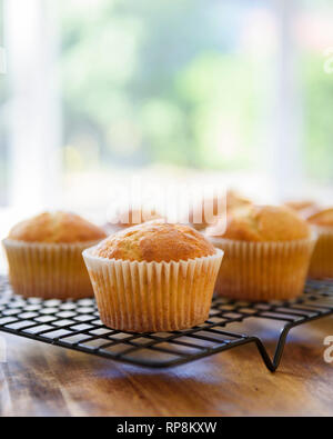
[(321, 210), (307, 218), (317, 235), (309, 270), (313, 279), (333, 278), (333, 208)]

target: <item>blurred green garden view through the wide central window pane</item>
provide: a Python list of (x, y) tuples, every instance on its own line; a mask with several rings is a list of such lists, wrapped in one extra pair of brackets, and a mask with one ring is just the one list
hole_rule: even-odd
[(61, 10), (69, 169), (255, 164), (266, 60), (236, 52), (238, 8), (122, 0), (78, 13), (71, 3)]

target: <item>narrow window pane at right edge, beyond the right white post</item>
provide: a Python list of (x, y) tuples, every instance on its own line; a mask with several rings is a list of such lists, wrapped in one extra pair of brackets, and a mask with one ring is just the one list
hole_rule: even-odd
[(333, 194), (333, 6), (330, 1), (304, 3), (297, 17), (304, 172), (314, 193), (329, 200)]

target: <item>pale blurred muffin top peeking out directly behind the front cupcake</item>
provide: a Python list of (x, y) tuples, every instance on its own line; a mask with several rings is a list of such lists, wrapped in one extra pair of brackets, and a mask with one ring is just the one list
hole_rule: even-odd
[(147, 221), (162, 219), (162, 214), (155, 210), (129, 209), (122, 211), (119, 216), (104, 226), (105, 231), (111, 235), (129, 227), (142, 225)]

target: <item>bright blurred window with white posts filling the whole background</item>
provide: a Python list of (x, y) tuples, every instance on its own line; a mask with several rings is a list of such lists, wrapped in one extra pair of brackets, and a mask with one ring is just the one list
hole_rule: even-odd
[(102, 221), (133, 176), (209, 180), (259, 201), (332, 193), (329, 0), (0, 8), (0, 208), (11, 218), (61, 207)]

